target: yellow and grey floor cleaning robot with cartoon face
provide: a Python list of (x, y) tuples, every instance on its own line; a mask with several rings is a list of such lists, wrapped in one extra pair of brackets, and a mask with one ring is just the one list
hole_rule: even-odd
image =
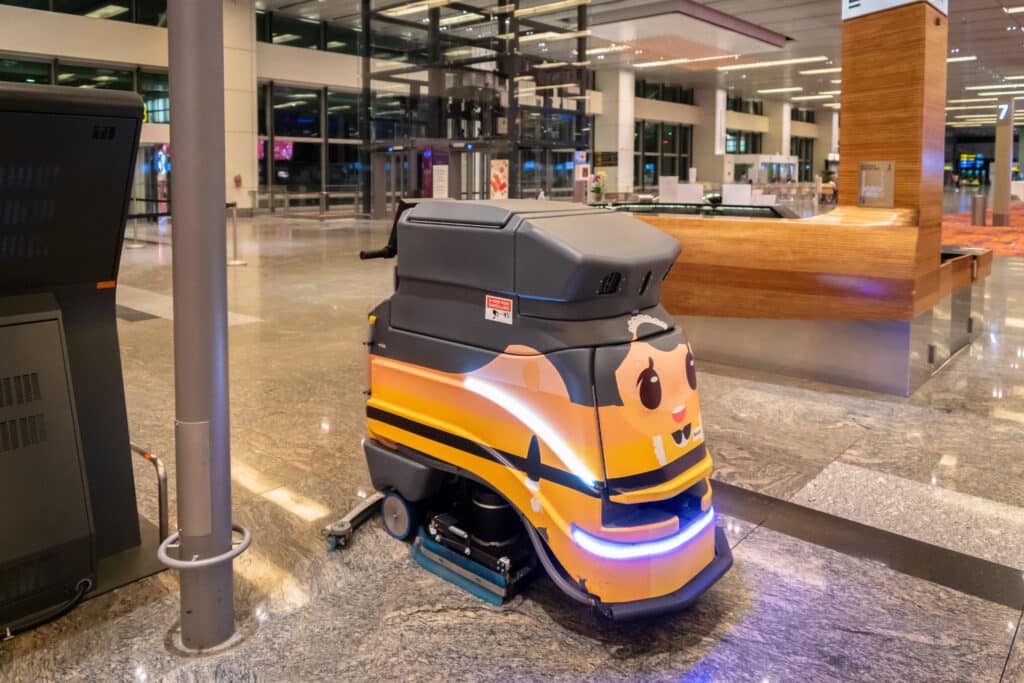
[(580, 205), (425, 201), (361, 254), (397, 256), (364, 449), (419, 564), (495, 604), (540, 565), (616, 620), (729, 569), (693, 354), (658, 305), (679, 250)]

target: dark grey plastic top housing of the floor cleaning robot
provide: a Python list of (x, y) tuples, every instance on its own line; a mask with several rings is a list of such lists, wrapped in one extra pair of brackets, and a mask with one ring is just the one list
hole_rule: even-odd
[(561, 319), (656, 305), (680, 251), (632, 216), (535, 200), (421, 202), (399, 220), (398, 247), (399, 283), (514, 296), (518, 314)]

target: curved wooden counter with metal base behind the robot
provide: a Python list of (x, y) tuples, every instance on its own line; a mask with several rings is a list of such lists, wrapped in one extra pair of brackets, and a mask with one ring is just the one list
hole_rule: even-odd
[(909, 394), (981, 329), (991, 252), (912, 209), (636, 217), (682, 244), (662, 298), (708, 359)]

